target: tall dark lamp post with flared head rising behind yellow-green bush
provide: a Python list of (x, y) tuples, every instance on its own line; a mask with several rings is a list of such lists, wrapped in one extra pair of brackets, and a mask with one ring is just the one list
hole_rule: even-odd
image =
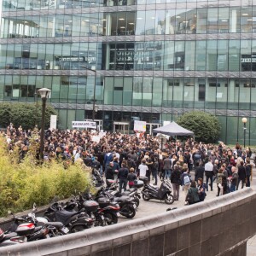
[(41, 119), (41, 133), (40, 133), (40, 160), (44, 160), (44, 125), (45, 125), (45, 108), (46, 100), (51, 90), (48, 88), (42, 88), (38, 90), (38, 94), (42, 99), (42, 119)]

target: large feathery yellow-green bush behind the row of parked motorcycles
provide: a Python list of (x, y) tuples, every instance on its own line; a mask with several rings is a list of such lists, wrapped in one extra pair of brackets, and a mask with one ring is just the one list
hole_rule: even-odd
[(20, 212), (32, 207), (49, 204), (57, 195), (67, 198), (74, 191), (93, 189), (90, 170), (80, 164), (63, 166), (62, 162), (51, 160), (37, 165), (33, 154), (18, 163), (18, 152), (9, 153), (5, 139), (0, 137), (0, 216), (10, 209)]

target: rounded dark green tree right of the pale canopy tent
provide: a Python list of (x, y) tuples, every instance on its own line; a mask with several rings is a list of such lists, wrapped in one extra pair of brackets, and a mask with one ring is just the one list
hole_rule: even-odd
[(177, 119), (177, 124), (193, 131), (195, 141), (204, 143), (215, 143), (221, 129), (216, 116), (202, 111), (184, 113)]

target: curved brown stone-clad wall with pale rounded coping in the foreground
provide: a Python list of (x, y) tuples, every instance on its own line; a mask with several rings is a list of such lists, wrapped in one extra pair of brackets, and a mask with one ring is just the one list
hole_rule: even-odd
[(247, 188), (156, 216), (3, 247), (0, 255), (242, 256), (254, 234), (256, 194)]

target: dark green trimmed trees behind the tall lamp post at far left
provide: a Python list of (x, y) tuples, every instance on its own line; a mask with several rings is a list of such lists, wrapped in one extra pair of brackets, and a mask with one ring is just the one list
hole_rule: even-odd
[[(6, 128), (9, 123), (13, 123), (15, 127), (22, 126), (23, 129), (32, 129), (35, 125), (40, 128), (41, 125), (41, 102), (36, 103), (20, 103), (20, 102), (2, 102), (0, 103), (0, 126)], [(55, 109), (49, 104), (45, 110), (45, 127), (48, 128), (50, 115), (56, 114)]]

